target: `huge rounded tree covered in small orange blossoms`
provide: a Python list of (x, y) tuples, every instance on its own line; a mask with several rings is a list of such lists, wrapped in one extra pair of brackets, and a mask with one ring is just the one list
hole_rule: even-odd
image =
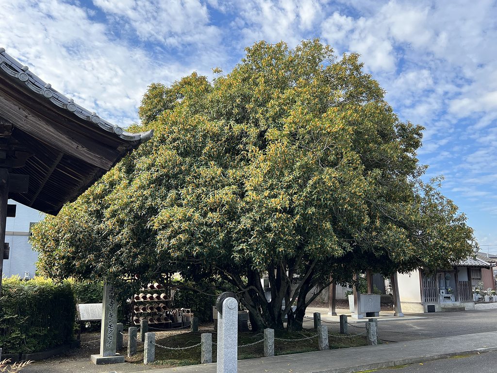
[(318, 40), (246, 52), (213, 82), (193, 73), (149, 87), (135, 129), (154, 138), (35, 226), (42, 272), (180, 271), (236, 289), (254, 329), (282, 328), (285, 315), (300, 328), (317, 295), (306, 296), (330, 274), (350, 281), (472, 254), (465, 216), (420, 181), (422, 127), (399, 120), (358, 55), (337, 58)]

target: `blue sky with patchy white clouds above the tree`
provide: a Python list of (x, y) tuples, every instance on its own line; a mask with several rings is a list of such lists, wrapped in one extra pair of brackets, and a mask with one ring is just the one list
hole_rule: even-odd
[(124, 127), (137, 121), (151, 82), (230, 71), (257, 40), (320, 37), (337, 54), (357, 52), (399, 116), (426, 128), (427, 176), (445, 177), (445, 195), (482, 249), (497, 253), (496, 1), (0, 0), (0, 8), (0, 47)]

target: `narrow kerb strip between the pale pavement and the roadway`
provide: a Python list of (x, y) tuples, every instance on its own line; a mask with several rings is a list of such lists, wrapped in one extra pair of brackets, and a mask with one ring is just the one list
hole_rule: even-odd
[(396, 367), (399, 365), (424, 363), (424, 362), (433, 361), (433, 360), (452, 358), (454, 356), (459, 356), (459, 355), (477, 355), (477, 354), (482, 354), (485, 352), (492, 352), (492, 351), (497, 351), (497, 346), (485, 347), (485, 348), (480, 348), (480, 349), (476, 349), (476, 350), (457, 351), (457, 352), (451, 352), (451, 353), (445, 353), (445, 354), (425, 355), (425, 356), (419, 356), (419, 357), (415, 357), (415, 358), (407, 358), (407, 359), (392, 360), (392, 361), (388, 361), (388, 362), (358, 365), (355, 367), (329, 369), (329, 370), (325, 370), (325, 371), (316, 371), (313, 373), (353, 373), (353, 372), (369, 371), (369, 370), (373, 370), (373, 369)]

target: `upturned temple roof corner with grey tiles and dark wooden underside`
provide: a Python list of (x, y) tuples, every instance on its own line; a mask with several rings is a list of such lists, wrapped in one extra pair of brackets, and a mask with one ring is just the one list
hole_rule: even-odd
[(0, 48), (0, 126), (5, 125), (13, 129), (0, 134), (0, 153), (8, 149), (14, 160), (29, 153), (25, 163), (17, 162), (23, 166), (9, 171), (28, 175), (28, 190), (9, 198), (49, 214), (57, 214), (153, 134), (129, 133), (103, 120)]

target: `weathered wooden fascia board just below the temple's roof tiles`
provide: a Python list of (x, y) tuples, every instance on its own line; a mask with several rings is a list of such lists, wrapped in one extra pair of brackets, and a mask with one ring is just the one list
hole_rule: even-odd
[[(109, 170), (118, 155), (117, 150), (100, 145), (71, 128), (61, 128), (60, 125), (42, 120), (32, 112), (19, 107), (1, 91), (0, 115), (48, 146), (102, 169)], [(96, 136), (96, 133), (89, 135)]]

